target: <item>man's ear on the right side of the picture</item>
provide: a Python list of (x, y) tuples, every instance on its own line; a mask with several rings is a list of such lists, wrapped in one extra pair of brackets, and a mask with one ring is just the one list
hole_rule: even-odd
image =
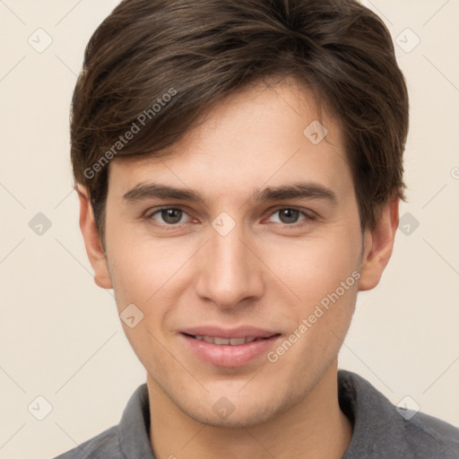
[(364, 255), (360, 268), (359, 290), (374, 289), (389, 262), (398, 228), (399, 202), (399, 198), (391, 199), (380, 209), (375, 228), (364, 231)]

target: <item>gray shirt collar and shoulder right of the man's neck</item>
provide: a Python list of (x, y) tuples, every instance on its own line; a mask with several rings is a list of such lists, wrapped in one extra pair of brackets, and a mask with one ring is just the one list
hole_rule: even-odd
[(363, 377), (338, 373), (340, 405), (352, 420), (345, 459), (459, 458), (459, 429), (420, 411), (402, 410)]

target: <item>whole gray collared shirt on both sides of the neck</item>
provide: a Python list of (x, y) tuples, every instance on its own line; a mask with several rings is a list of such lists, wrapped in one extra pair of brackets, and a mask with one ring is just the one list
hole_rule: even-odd
[[(342, 459), (458, 459), (459, 429), (395, 406), (364, 378), (338, 371), (339, 401), (353, 424)], [(412, 417), (411, 417), (412, 416)], [(55, 459), (154, 459), (147, 385), (131, 396), (120, 423)], [(179, 456), (179, 454), (177, 454)]]

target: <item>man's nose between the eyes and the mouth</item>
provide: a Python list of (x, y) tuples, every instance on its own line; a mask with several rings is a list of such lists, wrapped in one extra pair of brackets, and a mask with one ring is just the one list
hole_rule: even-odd
[(250, 247), (242, 225), (223, 236), (210, 229), (210, 240), (200, 251), (196, 293), (221, 308), (248, 304), (263, 295), (263, 263)]

